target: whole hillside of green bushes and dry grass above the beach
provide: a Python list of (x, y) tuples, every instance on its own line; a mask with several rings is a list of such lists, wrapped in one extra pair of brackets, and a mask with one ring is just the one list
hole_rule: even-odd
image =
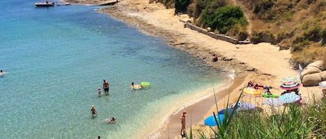
[[(151, 0), (150, 2), (153, 2)], [(252, 43), (291, 49), (291, 64), (326, 63), (326, 0), (156, 0), (193, 24)], [(326, 66), (326, 65), (325, 65)]]

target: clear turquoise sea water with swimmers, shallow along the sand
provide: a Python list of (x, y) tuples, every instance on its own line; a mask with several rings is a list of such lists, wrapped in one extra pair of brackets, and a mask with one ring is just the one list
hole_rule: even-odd
[[(0, 138), (146, 138), (188, 98), (225, 80), (99, 7), (35, 2), (0, 2)], [(99, 98), (103, 80), (110, 95)], [(131, 82), (152, 86), (131, 91)], [(104, 123), (111, 117), (116, 124)]]

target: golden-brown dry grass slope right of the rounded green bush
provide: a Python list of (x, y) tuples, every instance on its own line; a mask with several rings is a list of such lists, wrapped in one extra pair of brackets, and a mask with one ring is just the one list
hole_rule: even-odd
[[(256, 4), (263, 3), (257, 0), (243, 2), (248, 10), (254, 10)], [(320, 35), (326, 33), (325, 9), (326, 0), (274, 1), (271, 7), (260, 12), (263, 17), (253, 15), (252, 33), (253, 35), (271, 33), (281, 49), (291, 48), (295, 61), (306, 63), (325, 59), (323, 55), (326, 55), (326, 48), (320, 46), (322, 38)], [(270, 16), (274, 17), (271, 21), (264, 21)], [(325, 35), (323, 39), (326, 39)]]

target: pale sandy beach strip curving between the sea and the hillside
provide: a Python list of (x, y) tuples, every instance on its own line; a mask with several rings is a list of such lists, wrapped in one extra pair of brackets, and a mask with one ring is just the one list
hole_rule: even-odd
[[(99, 4), (110, 1), (67, 0), (67, 2)], [(124, 21), (147, 35), (162, 38), (169, 46), (179, 48), (193, 57), (202, 59), (207, 66), (214, 66), (225, 72), (234, 70), (236, 73), (234, 84), (229, 89), (216, 93), (218, 109), (225, 107), (227, 100), (230, 104), (236, 102), (239, 90), (250, 80), (264, 86), (272, 86), (270, 91), (280, 95), (282, 92), (282, 89), (279, 89), (280, 81), (288, 76), (298, 77), (298, 71), (289, 64), (290, 50), (279, 50), (277, 46), (268, 43), (231, 44), (213, 39), (197, 33), (197, 31), (184, 28), (184, 23), (179, 20), (191, 21), (191, 19), (187, 15), (174, 15), (174, 9), (166, 9), (161, 3), (149, 3), (149, 0), (120, 0), (115, 6), (99, 9), (99, 12)], [(211, 62), (213, 54), (218, 55), (218, 62)], [(319, 91), (318, 86), (300, 88), (305, 102), (311, 100), (313, 95), (311, 92)], [(242, 98), (243, 101), (250, 101), (260, 106), (263, 100), (263, 98), (246, 99)], [(264, 110), (268, 109), (268, 107), (262, 107)], [(147, 138), (180, 138), (179, 116), (181, 111), (188, 111), (186, 129), (190, 128), (190, 124), (198, 126), (193, 128), (203, 127), (203, 119), (212, 115), (213, 111), (217, 111), (215, 98), (211, 96), (181, 109), (175, 115), (171, 115), (166, 127), (153, 131), (153, 134), (160, 136), (147, 136)]]

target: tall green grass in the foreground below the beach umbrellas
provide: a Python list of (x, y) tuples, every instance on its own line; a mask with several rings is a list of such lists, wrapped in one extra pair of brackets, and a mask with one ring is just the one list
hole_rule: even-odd
[(225, 113), (223, 124), (211, 127), (210, 133), (190, 131), (186, 138), (326, 138), (326, 98), (301, 106), (287, 104), (281, 112), (274, 109), (272, 114), (233, 111), (227, 117)]

